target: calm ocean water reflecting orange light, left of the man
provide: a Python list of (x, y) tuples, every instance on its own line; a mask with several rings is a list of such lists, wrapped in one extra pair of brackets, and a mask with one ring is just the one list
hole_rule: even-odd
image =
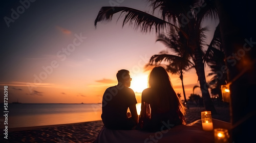
[[(8, 104), (8, 111), (8, 128), (101, 120), (101, 104)], [(3, 115), (0, 117), (1, 128), (6, 120)]]

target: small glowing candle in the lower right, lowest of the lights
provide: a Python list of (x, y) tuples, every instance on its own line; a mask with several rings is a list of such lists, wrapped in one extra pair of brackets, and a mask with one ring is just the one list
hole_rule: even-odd
[(225, 143), (228, 142), (229, 134), (227, 129), (214, 129), (214, 140), (215, 143)]

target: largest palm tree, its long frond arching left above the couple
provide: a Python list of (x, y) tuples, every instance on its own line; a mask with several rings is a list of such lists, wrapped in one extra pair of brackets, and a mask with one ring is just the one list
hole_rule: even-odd
[[(217, 11), (214, 2), (201, 1), (152, 1), (153, 12), (160, 9), (162, 19), (151, 14), (127, 7), (102, 7), (95, 19), (95, 27), (98, 21), (110, 21), (115, 13), (124, 14), (123, 26), (126, 23), (134, 26), (134, 29), (140, 28), (142, 32), (151, 32), (153, 29), (160, 31), (175, 28), (179, 30), (189, 45), (189, 53), (195, 61), (195, 67), (200, 82), (202, 96), (206, 110), (216, 113), (216, 109), (211, 102), (208, 92), (208, 86), (205, 79), (202, 41), (200, 39), (200, 29), (202, 20), (210, 16), (212, 19), (217, 17)], [(200, 12), (197, 10), (200, 8)], [(193, 15), (191, 17), (191, 15)], [(184, 22), (184, 17), (186, 22)], [(190, 23), (190, 24), (187, 24)], [(183, 28), (185, 31), (181, 30)]]

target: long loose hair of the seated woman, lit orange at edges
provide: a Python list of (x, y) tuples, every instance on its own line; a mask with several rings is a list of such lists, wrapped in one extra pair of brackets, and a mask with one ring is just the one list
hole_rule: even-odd
[(167, 110), (173, 112), (176, 111), (181, 122), (185, 124), (185, 108), (174, 91), (168, 73), (163, 67), (158, 66), (152, 69), (148, 77), (148, 85), (157, 93), (157, 97), (154, 98), (159, 102), (159, 107), (167, 108)]

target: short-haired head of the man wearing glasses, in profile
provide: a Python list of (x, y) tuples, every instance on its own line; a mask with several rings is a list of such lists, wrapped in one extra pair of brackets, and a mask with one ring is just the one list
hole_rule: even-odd
[(119, 70), (118, 73), (116, 74), (118, 83), (122, 83), (124, 86), (130, 87), (132, 79), (129, 73), (130, 73), (129, 70), (126, 70), (126, 69)]

